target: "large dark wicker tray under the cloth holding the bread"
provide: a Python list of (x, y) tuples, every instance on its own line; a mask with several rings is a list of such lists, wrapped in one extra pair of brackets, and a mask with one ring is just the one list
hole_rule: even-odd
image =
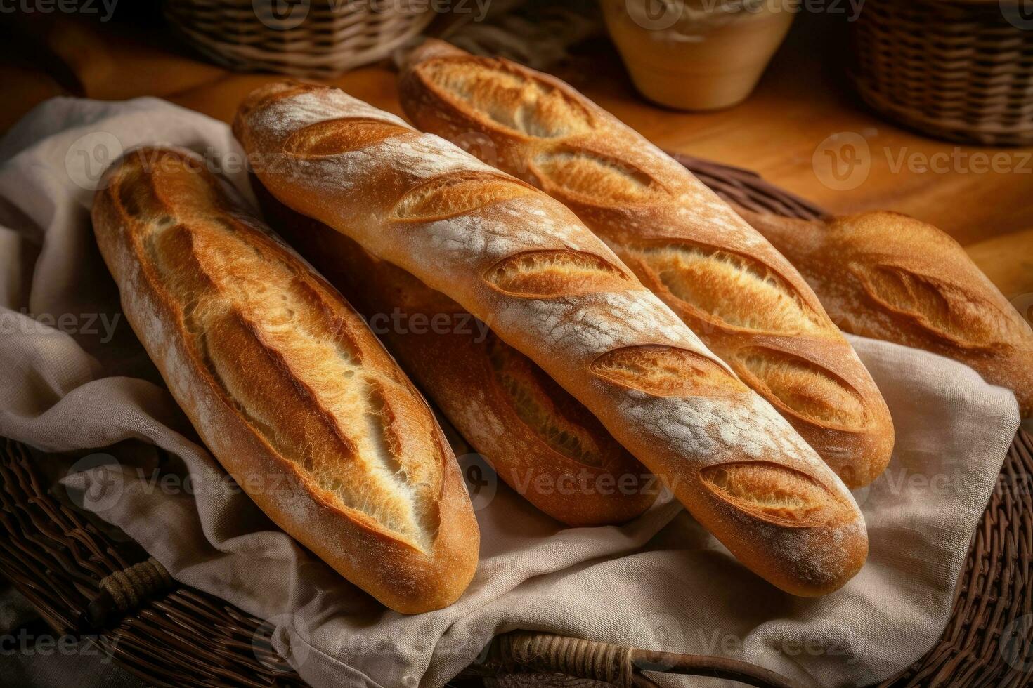
[[(823, 215), (750, 171), (676, 157), (739, 205), (793, 218)], [(87, 635), (149, 685), (305, 685), (273, 650), (269, 624), (171, 580), (124, 535), (113, 539), (87, 515), (59, 501), (36, 465), (24, 446), (0, 438), (0, 575), (56, 632)], [(1031, 474), (1033, 438), (1020, 430), (972, 537), (946, 630), (926, 656), (879, 688), (1021, 688), (1030, 683), (1026, 648), (1033, 640), (1027, 623), (1033, 618)], [(587, 683), (599, 681), (618, 688), (655, 688), (649, 677), (658, 670), (766, 688), (789, 685), (742, 661), (530, 631), (496, 637), (484, 661), (465, 669), (450, 685), (511, 685), (504, 682), (506, 676), (533, 673), (538, 675), (534, 685), (540, 686), (585, 688), (599, 686)], [(570, 678), (582, 682), (568, 683)]]

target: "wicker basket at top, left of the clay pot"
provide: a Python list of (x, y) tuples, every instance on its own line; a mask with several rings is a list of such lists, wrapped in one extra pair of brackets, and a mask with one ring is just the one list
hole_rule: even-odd
[(388, 57), (434, 19), (429, 0), (164, 0), (163, 6), (178, 33), (221, 65), (320, 78)]

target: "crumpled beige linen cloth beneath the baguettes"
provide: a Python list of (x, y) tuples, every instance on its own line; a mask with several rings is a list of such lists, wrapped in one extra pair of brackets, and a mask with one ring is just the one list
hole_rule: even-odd
[[(466, 594), (418, 616), (383, 609), (226, 480), (122, 317), (89, 211), (103, 166), (143, 143), (193, 149), (250, 196), (228, 128), (156, 99), (49, 100), (0, 141), (0, 435), (107, 448), (66, 486), (177, 580), (275, 624), (277, 649), (313, 686), (442, 686), (518, 628), (740, 658), (807, 686), (877, 682), (938, 640), (1018, 406), (959, 363), (856, 337), (897, 449), (856, 493), (871, 553), (842, 590), (780, 592), (669, 499), (621, 527), (566, 528), (489, 472)], [(173, 458), (155, 464), (150, 446)], [(104, 469), (90, 466), (116, 460), (115, 488), (91, 490)]]

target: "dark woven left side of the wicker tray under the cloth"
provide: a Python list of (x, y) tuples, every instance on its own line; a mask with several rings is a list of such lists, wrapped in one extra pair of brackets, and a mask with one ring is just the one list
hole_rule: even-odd
[(85, 638), (149, 685), (305, 685), (273, 650), (272, 628), (217, 597), (173, 582), (135, 609), (113, 598), (105, 582), (153, 560), (57, 499), (33, 463), (0, 439), (0, 574), (55, 633)]

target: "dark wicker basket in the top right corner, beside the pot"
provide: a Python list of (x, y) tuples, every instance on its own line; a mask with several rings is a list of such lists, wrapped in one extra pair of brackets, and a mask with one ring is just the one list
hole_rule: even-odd
[(1033, 14), (1024, 0), (868, 0), (854, 25), (860, 97), (920, 133), (1033, 143)]

